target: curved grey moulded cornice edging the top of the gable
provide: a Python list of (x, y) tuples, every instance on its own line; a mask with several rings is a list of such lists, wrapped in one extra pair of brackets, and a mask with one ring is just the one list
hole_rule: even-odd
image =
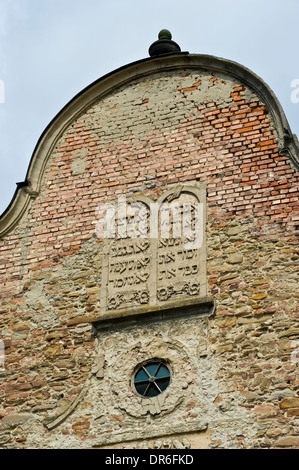
[[(7, 234), (21, 220), (30, 200), (38, 197), (45, 168), (57, 142), (80, 116), (117, 90), (130, 87), (132, 81), (136, 83), (152, 80), (157, 74), (168, 77), (171, 73), (177, 74), (185, 69), (192, 70), (199, 76), (207, 73), (212, 77), (228, 77), (255, 93), (271, 116), (279, 153), (287, 156), (296, 169), (299, 168), (297, 137), (291, 133), (284, 111), (272, 90), (250, 70), (235, 62), (208, 55), (180, 53), (144, 59), (100, 78), (75, 96), (52, 120), (36, 145), (24, 183), (18, 184), (12, 202), (0, 218), (0, 236)], [(182, 90), (188, 94), (195, 91), (195, 88), (200, 89), (200, 86), (194, 87), (192, 83)], [(202, 99), (204, 100), (204, 96)], [(219, 99), (221, 102), (221, 96)], [(113, 115), (109, 119), (113, 120)]]

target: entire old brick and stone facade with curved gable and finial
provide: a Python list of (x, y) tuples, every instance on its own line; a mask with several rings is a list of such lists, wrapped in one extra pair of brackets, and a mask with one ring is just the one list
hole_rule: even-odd
[(68, 103), (0, 219), (1, 447), (299, 448), (298, 168), (165, 32)]

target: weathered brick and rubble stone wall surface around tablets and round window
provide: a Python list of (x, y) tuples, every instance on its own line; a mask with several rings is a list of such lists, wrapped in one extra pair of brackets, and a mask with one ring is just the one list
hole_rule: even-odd
[[(1, 239), (2, 447), (299, 448), (298, 171), (270, 111), (182, 65), (69, 119)], [(98, 206), (183, 183), (206, 185), (212, 314), (97, 330)], [(151, 355), (173, 380), (143, 400), (130, 377)]]

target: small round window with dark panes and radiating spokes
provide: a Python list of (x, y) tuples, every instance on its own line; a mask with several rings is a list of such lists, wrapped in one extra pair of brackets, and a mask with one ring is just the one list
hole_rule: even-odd
[(170, 384), (170, 372), (162, 361), (150, 361), (138, 367), (134, 376), (134, 387), (142, 397), (155, 397)]

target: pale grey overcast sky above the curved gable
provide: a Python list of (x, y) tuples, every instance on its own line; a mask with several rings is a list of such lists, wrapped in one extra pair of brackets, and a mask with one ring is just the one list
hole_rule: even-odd
[(299, 0), (0, 0), (0, 214), (53, 117), (164, 28), (259, 75), (299, 137), (298, 18)]

